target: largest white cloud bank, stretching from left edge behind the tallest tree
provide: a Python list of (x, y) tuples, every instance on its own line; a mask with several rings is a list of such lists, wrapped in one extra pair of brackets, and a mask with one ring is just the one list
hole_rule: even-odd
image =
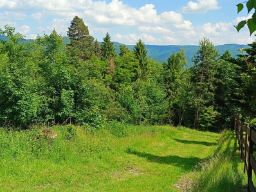
[[(84, 19), (91, 34), (94, 34), (94, 30), (96, 31), (98, 28), (101, 28), (101, 31), (105, 33), (107, 29), (118, 26), (134, 26), (136, 28), (148, 26), (150, 33), (162, 34), (168, 34), (176, 29), (187, 30), (192, 28), (191, 22), (184, 20), (180, 13), (171, 11), (158, 14), (154, 4), (145, 4), (145, 6), (136, 9), (128, 4), (123, 4), (120, 0), (113, 0), (110, 3), (91, 0), (3, 0), (3, 3), (0, 4), (1, 8), (10, 9), (12, 12), (33, 10), (34, 13), (30, 16), (32, 19), (38, 20), (41, 26), (43, 22), (49, 22), (48, 18), (54, 15), (55, 18), (59, 19), (53, 20), (44, 28), (49, 31), (55, 28), (60, 33), (66, 33), (70, 21), (75, 15)], [(149, 31), (145, 31), (145, 28), (138, 29), (142, 33), (149, 33)], [(49, 31), (46, 31), (46, 33)]]

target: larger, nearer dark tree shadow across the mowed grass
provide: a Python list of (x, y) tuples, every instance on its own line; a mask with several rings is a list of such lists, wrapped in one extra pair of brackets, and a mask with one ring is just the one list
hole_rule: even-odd
[(127, 154), (133, 154), (138, 157), (143, 157), (147, 159), (147, 161), (152, 163), (160, 163), (160, 164), (170, 164), (172, 166), (177, 166), (186, 171), (194, 170), (194, 166), (201, 161), (198, 157), (179, 157), (179, 156), (154, 156), (152, 154), (147, 154), (145, 152), (139, 152), (136, 150), (127, 149)]

